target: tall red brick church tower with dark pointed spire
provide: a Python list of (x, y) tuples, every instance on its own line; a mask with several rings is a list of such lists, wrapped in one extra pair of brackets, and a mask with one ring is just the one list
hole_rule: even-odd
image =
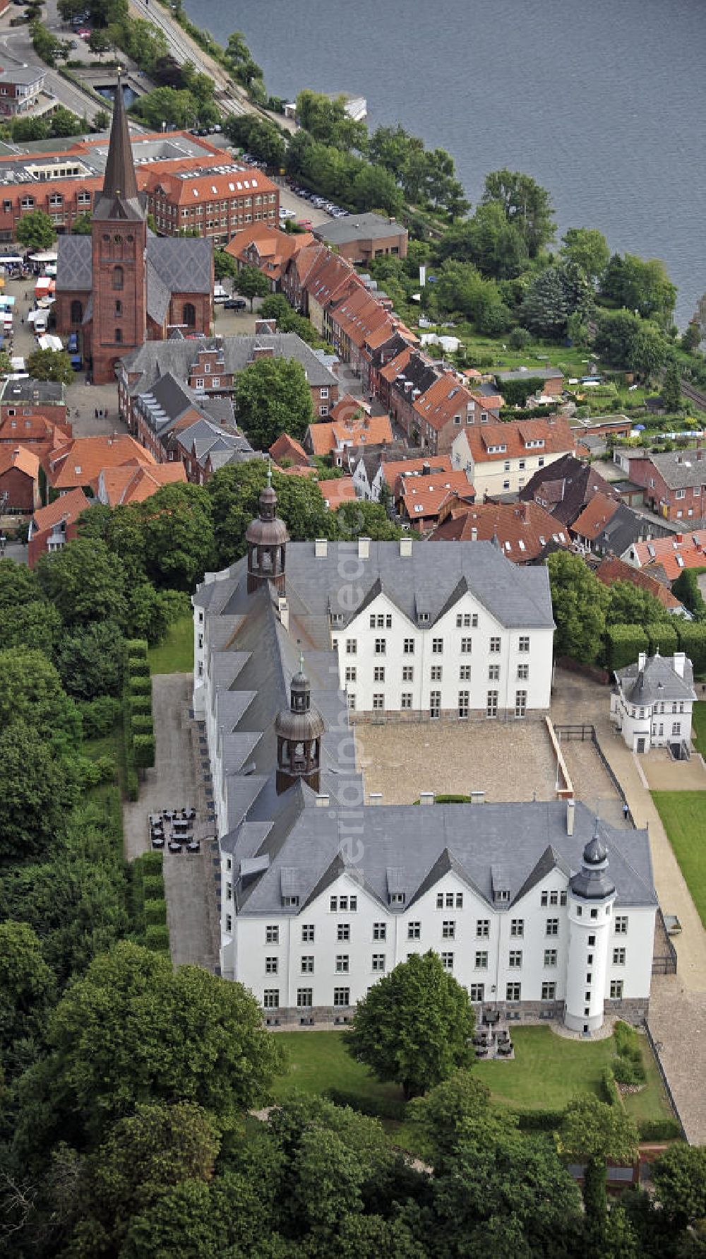
[(92, 222), (93, 380), (115, 380), (118, 359), (147, 340), (147, 213), (137, 193), (118, 78), (103, 191)]

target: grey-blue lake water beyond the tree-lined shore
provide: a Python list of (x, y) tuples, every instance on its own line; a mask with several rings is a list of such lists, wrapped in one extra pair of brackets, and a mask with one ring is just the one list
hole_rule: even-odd
[(476, 201), (508, 166), (550, 189), (559, 232), (663, 258), (677, 320), (706, 291), (703, 0), (186, 0), (243, 30), (268, 89), (347, 91), (369, 123), (448, 149)]

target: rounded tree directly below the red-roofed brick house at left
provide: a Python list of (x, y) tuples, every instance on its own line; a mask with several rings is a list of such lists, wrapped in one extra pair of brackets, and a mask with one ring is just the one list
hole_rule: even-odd
[(77, 538), (60, 551), (40, 555), (35, 573), (65, 624), (123, 623), (125, 569), (99, 539)]

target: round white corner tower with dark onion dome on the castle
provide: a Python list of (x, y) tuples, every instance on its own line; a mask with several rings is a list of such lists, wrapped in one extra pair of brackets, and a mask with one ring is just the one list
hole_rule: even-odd
[(584, 849), (581, 869), (569, 883), (569, 958), (564, 1022), (573, 1031), (603, 1026), (605, 973), (615, 885), (608, 872), (608, 850), (598, 835)]

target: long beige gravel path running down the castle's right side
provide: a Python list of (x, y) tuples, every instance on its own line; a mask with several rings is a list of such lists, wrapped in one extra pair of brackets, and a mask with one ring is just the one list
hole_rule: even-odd
[[(706, 932), (677, 859), (649, 794), (639, 759), (615, 733), (609, 719), (610, 696), (607, 686), (565, 670), (556, 671), (551, 699), (555, 724), (576, 720), (595, 726), (602, 752), (620, 783), (636, 826), (647, 826), (654, 886), (663, 913), (676, 914), (682, 933), (673, 942), (677, 973), (653, 976), (649, 1001), (649, 1029), (656, 1041), (687, 1138), (706, 1144)], [(693, 789), (695, 769), (675, 762), (670, 786)], [(706, 816), (706, 774), (703, 776)]]

